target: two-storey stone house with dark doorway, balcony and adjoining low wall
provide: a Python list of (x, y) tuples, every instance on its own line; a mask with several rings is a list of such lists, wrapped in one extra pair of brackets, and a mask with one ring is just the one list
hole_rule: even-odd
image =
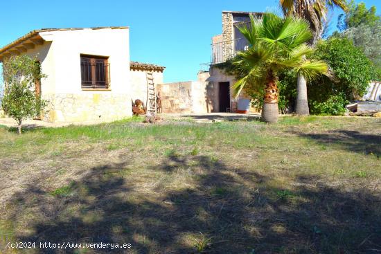
[(197, 80), (159, 84), (163, 113), (204, 114), (210, 112), (256, 111), (251, 107), (249, 96), (234, 98), (231, 86), (235, 78), (226, 75), (219, 64), (236, 56), (249, 46), (238, 30), (238, 25), (250, 21), (249, 15), (261, 17), (260, 12), (222, 12), (222, 34), (211, 39), (211, 62), (200, 64)]

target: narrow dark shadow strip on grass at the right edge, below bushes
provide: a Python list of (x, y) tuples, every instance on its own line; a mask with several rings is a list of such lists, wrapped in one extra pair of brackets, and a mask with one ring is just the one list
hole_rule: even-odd
[(306, 134), (299, 131), (292, 131), (292, 134), (316, 140), (317, 143), (324, 145), (337, 144), (350, 152), (381, 156), (381, 136), (376, 134), (364, 134), (360, 131), (345, 129), (330, 131), (324, 134)]

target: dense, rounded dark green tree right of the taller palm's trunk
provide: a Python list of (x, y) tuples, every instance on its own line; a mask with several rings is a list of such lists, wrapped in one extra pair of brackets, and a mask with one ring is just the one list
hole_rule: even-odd
[(375, 74), (372, 62), (345, 37), (319, 42), (312, 57), (327, 62), (337, 78), (337, 82), (320, 78), (308, 86), (313, 114), (341, 114), (339, 108), (361, 98)]

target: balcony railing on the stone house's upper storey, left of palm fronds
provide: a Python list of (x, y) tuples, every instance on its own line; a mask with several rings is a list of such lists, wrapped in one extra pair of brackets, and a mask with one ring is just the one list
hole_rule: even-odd
[(249, 43), (245, 38), (232, 39), (230, 41), (212, 44), (211, 64), (226, 62), (235, 57), (238, 51), (245, 51)]

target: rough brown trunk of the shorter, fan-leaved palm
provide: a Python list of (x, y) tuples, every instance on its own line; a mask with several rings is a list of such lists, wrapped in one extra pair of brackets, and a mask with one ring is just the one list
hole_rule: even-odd
[(276, 85), (276, 78), (269, 75), (263, 98), (262, 120), (265, 123), (276, 123), (278, 122), (278, 115), (278, 86)]

